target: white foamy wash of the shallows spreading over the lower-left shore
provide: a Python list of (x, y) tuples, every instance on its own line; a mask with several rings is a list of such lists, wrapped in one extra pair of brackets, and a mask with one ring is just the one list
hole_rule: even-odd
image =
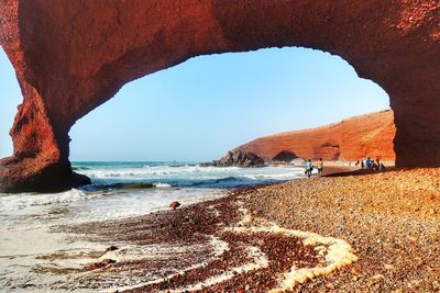
[[(99, 193), (99, 192), (94, 192)], [(170, 200), (178, 200), (184, 204), (191, 204), (204, 200), (209, 200), (218, 196), (223, 196), (224, 191), (206, 190), (206, 189), (168, 189), (158, 188), (150, 189), (144, 191), (130, 191), (120, 192), (111, 191), (105, 196), (91, 196), (87, 199), (88, 193), (85, 192), (86, 199), (78, 200), (80, 195), (82, 199), (82, 191), (66, 192), (63, 194), (31, 194), (32, 196), (42, 196), (46, 199), (41, 201), (38, 199), (37, 204), (34, 201), (29, 200), (28, 209), (12, 211), (8, 216), (1, 214), (1, 218), (6, 216), (6, 222), (2, 222), (2, 228), (0, 228), (0, 292), (47, 292), (56, 291), (64, 292), (68, 291), (66, 288), (73, 288), (78, 292), (90, 292), (89, 290), (81, 290), (77, 278), (81, 278), (79, 274), (72, 273), (35, 273), (34, 269), (77, 269), (87, 266), (88, 263), (99, 261), (99, 259), (90, 259), (87, 257), (69, 258), (69, 255), (84, 253), (90, 251), (103, 251), (108, 245), (106, 244), (91, 244), (84, 243), (72, 236), (62, 233), (51, 233), (52, 227), (56, 227), (59, 224), (78, 224), (87, 223), (90, 221), (103, 221), (109, 218), (120, 218), (134, 215), (143, 215), (162, 209), (168, 209)], [(66, 194), (73, 194), (73, 199), (67, 200)], [(4, 198), (11, 196), (9, 200), (13, 202), (14, 195), (6, 195)], [(50, 201), (48, 199), (55, 199)], [(76, 200), (75, 200), (76, 199)], [(3, 199), (7, 201), (7, 199)], [(74, 201), (75, 200), (75, 201)], [(43, 204), (44, 203), (44, 204)], [(33, 205), (32, 205), (33, 204)], [(10, 205), (14, 206), (12, 203)], [(52, 216), (52, 212), (66, 210), (65, 214), (55, 214)], [(32, 212), (31, 212), (32, 211)], [(8, 227), (8, 229), (3, 228)], [(162, 257), (166, 259), (166, 255), (176, 256), (182, 253), (182, 249), (201, 249), (205, 251), (208, 248), (200, 248), (196, 246), (132, 246), (124, 243), (112, 244), (120, 247), (119, 250), (109, 252), (101, 258), (112, 258), (118, 261), (131, 261), (140, 260), (145, 257), (157, 258)], [(228, 244), (213, 237), (210, 241), (212, 247), (212, 257), (218, 257), (226, 249), (229, 249)], [(180, 249), (180, 250), (179, 250)], [(209, 249), (208, 249), (209, 250)], [(51, 253), (66, 255), (67, 258), (62, 259), (40, 259), (40, 256)], [(206, 260), (208, 261), (208, 259)], [(204, 262), (205, 263), (205, 262)], [(202, 263), (195, 263), (193, 267), (197, 268)], [(173, 270), (173, 268), (168, 268)], [(84, 273), (82, 273), (84, 274)], [(102, 290), (113, 284), (139, 284), (145, 282), (144, 280), (157, 280), (161, 272), (144, 273), (144, 278), (139, 279), (139, 275), (132, 274), (109, 274), (102, 275), (99, 280), (90, 279), (90, 288)], [(33, 288), (24, 288), (24, 284), (33, 283)], [(15, 290), (16, 289), (16, 290)], [(15, 291), (14, 291), (15, 290)], [(107, 291), (107, 290), (106, 290)]]

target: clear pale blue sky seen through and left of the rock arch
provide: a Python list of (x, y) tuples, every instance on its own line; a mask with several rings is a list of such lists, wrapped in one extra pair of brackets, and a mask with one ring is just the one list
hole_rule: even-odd
[[(0, 49), (0, 157), (20, 88)], [(338, 56), (272, 48), (201, 56), (125, 84), (70, 131), (72, 160), (211, 160), (260, 136), (389, 109)]]

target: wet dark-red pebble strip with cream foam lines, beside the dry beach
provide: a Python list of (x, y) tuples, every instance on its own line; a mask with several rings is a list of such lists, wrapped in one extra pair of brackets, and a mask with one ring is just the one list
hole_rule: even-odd
[[(265, 188), (270, 187), (275, 185)], [(185, 251), (184, 255), (188, 253), (186, 257), (193, 258), (191, 266), (179, 268), (179, 260), (168, 260), (178, 273), (135, 285), (114, 286), (110, 292), (286, 292), (283, 288), (356, 260), (350, 245), (342, 239), (285, 229), (260, 217), (254, 211), (243, 211), (243, 196), (261, 188), (240, 188), (224, 198), (176, 211), (78, 225), (69, 233), (87, 233), (88, 240), (109, 244), (118, 243), (123, 237), (125, 243), (142, 246), (191, 247), (209, 244), (212, 239), (223, 246), (213, 256), (208, 250), (198, 253)], [(212, 246), (210, 250), (218, 251), (219, 247)], [(329, 260), (327, 255), (333, 256)], [(114, 256), (106, 253), (99, 259)], [(296, 270), (292, 271), (294, 263)], [(163, 264), (155, 266), (152, 267), (150, 259), (118, 261), (103, 268), (98, 266), (98, 273), (110, 270), (124, 274), (140, 268), (165, 269), (161, 267)], [(97, 272), (96, 268), (88, 266), (84, 271)]]

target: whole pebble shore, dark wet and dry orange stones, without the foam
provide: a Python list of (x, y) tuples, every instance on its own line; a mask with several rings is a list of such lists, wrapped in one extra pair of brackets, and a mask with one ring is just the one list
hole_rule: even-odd
[[(358, 261), (298, 283), (294, 292), (435, 291), (440, 288), (439, 188), (440, 169), (296, 179), (282, 184), (239, 189), (226, 198), (177, 211), (91, 223), (78, 226), (76, 233), (90, 233), (95, 240), (105, 243), (124, 239), (138, 245), (187, 247), (208, 244), (215, 236), (218, 241), (228, 244), (229, 250), (217, 256), (212, 255), (213, 246), (202, 253), (186, 256), (201, 263), (198, 268), (165, 275), (161, 282), (143, 285), (141, 282), (139, 286), (125, 288), (127, 292), (179, 292), (183, 288), (190, 292), (267, 292), (278, 288), (282, 277), (293, 264), (312, 268), (322, 262), (316, 247), (295, 237), (226, 233), (224, 228), (240, 223), (240, 209), (246, 209), (258, 221), (268, 221), (289, 230), (334, 237), (353, 247)], [(254, 251), (249, 247), (254, 247)], [(243, 269), (252, 261), (264, 264), (263, 256), (268, 263), (266, 268)], [(173, 258), (170, 263), (180, 260)], [(148, 270), (151, 266), (151, 261), (145, 260), (122, 261), (109, 264), (100, 272), (128, 273), (133, 268)], [(212, 281), (216, 275), (228, 272), (232, 273), (229, 279)], [(204, 281), (207, 282), (205, 285)]]

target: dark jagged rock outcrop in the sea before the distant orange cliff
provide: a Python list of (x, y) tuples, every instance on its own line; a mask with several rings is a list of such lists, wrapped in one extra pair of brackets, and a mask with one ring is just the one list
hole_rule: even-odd
[(264, 160), (253, 153), (245, 153), (240, 149), (230, 150), (228, 154), (219, 160), (212, 162), (205, 162), (200, 166), (208, 167), (262, 167)]

